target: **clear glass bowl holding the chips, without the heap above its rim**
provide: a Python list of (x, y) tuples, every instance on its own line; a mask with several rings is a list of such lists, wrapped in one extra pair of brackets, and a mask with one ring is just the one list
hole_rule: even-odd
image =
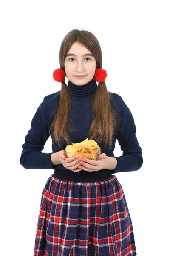
[(90, 160), (98, 160), (99, 156), (101, 155), (102, 149), (101, 148), (93, 148), (91, 150), (88, 151), (80, 151), (80, 152), (68, 152), (65, 151), (66, 153), (66, 157), (73, 157), (73, 156), (78, 156), (82, 158), (82, 161), (85, 162), (85, 160), (83, 160), (83, 158), (88, 158)]

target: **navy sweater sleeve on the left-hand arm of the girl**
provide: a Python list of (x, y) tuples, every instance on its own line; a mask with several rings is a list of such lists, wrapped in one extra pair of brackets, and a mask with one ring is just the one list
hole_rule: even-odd
[(37, 108), (37, 111), (31, 121), (31, 128), (25, 137), (25, 143), (22, 145), (20, 164), (26, 169), (56, 169), (52, 166), (51, 153), (41, 152), (48, 140), (50, 134), (48, 131), (49, 116), (48, 109), (43, 102)]

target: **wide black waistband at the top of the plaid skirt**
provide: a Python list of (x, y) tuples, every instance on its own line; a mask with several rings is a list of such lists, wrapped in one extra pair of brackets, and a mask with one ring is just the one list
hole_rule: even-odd
[(73, 172), (68, 170), (55, 169), (54, 177), (59, 178), (61, 180), (75, 181), (75, 182), (95, 182), (106, 180), (113, 175), (109, 170), (102, 169), (97, 172), (87, 172), (82, 170), (80, 172)]

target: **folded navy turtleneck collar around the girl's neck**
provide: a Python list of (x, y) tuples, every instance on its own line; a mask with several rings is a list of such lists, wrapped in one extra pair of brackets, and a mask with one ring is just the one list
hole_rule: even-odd
[(91, 81), (84, 85), (76, 85), (68, 80), (68, 87), (71, 89), (74, 96), (85, 97), (94, 94), (97, 89), (97, 83), (94, 77), (91, 79)]

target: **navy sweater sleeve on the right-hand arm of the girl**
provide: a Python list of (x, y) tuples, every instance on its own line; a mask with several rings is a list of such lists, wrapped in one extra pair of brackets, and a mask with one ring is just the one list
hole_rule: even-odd
[(137, 171), (143, 164), (142, 148), (139, 146), (136, 137), (136, 125), (130, 109), (121, 96), (119, 98), (119, 111), (122, 133), (119, 132), (116, 138), (123, 154), (120, 157), (115, 157), (117, 159), (117, 166), (113, 170), (113, 174), (116, 172)]

